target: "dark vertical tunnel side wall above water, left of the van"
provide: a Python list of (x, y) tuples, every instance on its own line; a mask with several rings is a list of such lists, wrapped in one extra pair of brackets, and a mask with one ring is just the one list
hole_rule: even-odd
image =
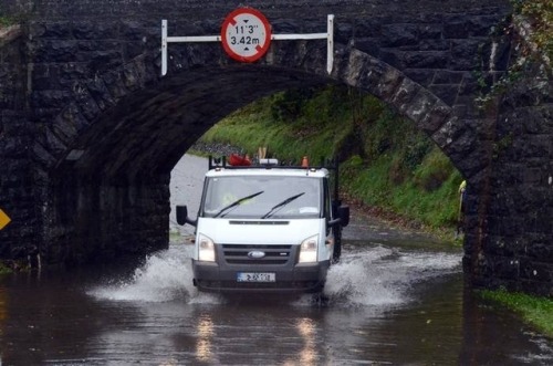
[(131, 185), (75, 178), (54, 184), (46, 200), (42, 255), (49, 264), (106, 262), (167, 248), (169, 177)]

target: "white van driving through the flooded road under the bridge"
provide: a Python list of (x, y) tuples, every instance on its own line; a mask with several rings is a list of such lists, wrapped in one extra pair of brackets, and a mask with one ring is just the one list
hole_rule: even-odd
[(349, 208), (337, 197), (337, 166), (330, 168), (335, 171), (331, 179), (323, 167), (213, 161), (209, 159), (197, 219), (188, 218), (186, 206), (177, 206), (177, 222), (196, 227), (198, 290), (321, 292), (331, 262), (340, 259), (341, 231), (349, 221)]

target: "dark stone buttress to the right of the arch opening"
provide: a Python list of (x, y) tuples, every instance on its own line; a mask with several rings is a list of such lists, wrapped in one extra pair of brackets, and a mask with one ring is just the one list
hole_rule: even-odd
[(553, 294), (553, 84), (529, 64), (501, 98), (478, 282)]

